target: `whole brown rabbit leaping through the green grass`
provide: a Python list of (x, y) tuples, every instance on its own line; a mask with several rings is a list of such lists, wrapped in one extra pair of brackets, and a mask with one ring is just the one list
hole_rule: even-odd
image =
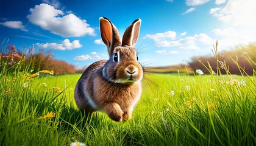
[(74, 91), (77, 107), (85, 113), (103, 111), (117, 122), (127, 121), (141, 96), (143, 66), (133, 48), (140, 33), (141, 19), (127, 27), (120, 40), (118, 30), (107, 18), (99, 18), (101, 38), (109, 60), (88, 66)]

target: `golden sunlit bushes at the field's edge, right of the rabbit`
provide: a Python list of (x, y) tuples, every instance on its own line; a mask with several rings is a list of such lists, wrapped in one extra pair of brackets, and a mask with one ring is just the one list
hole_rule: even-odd
[[(221, 47), (221, 46), (219, 46)], [(256, 45), (249, 44), (247, 46), (238, 46), (232, 50), (222, 50), (218, 55), (207, 55), (201, 57), (193, 57), (188, 67), (196, 71), (201, 69), (205, 74), (208, 72), (209, 64), (214, 72), (217, 71), (217, 60), (221, 74), (245, 74), (252, 75), (256, 70)], [(205, 68), (205, 66), (207, 68)], [(241, 68), (238, 68), (240, 66)]]

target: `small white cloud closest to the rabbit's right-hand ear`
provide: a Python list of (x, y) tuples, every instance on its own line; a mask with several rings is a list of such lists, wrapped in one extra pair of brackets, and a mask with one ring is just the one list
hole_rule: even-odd
[(160, 41), (160, 40), (165, 40), (166, 38), (170, 38), (171, 40), (176, 39), (176, 32), (173, 31), (168, 31), (164, 33), (155, 33), (154, 35), (147, 34), (147, 38), (151, 38), (154, 41)]

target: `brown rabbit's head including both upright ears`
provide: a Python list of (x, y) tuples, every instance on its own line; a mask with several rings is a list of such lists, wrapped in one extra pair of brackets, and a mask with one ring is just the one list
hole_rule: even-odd
[(109, 60), (102, 68), (105, 80), (115, 83), (135, 83), (143, 78), (143, 68), (138, 63), (137, 51), (133, 47), (140, 33), (141, 19), (127, 27), (120, 40), (118, 30), (107, 18), (99, 18), (101, 38), (107, 46)]

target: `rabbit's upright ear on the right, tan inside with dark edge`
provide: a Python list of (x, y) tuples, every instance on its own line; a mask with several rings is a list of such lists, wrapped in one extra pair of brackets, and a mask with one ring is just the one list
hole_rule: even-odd
[(134, 47), (137, 43), (138, 36), (140, 33), (141, 19), (135, 19), (132, 24), (124, 32), (122, 44)]

